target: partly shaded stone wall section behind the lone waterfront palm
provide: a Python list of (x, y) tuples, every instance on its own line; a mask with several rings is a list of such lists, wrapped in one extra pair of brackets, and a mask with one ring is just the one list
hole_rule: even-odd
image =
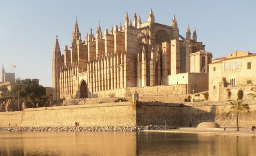
[[(252, 127), (256, 125), (256, 101), (244, 101), (249, 104), (250, 113), (243, 111), (239, 115), (240, 127)], [(188, 127), (189, 123), (196, 127), (200, 122), (216, 122), (221, 127), (236, 127), (236, 115), (232, 113), (226, 117), (230, 111), (231, 104), (228, 102), (197, 102), (185, 103), (181, 107), (182, 127)]]

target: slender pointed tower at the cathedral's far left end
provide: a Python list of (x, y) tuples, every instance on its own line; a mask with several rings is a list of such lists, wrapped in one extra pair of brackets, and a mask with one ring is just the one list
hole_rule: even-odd
[(58, 38), (56, 36), (56, 41), (53, 50), (53, 60), (52, 60), (52, 68), (53, 68), (53, 100), (58, 100), (59, 97), (59, 69), (62, 65), (61, 61), (61, 52), (59, 48)]

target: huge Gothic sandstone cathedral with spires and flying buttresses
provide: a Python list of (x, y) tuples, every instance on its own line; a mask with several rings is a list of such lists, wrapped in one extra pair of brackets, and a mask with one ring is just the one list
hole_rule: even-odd
[[(208, 90), (208, 64), (212, 53), (197, 41), (189, 26), (179, 34), (175, 15), (171, 26), (125, 15), (122, 26), (112, 26), (82, 39), (75, 21), (70, 47), (60, 51), (56, 37), (53, 51), (53, 99), (93, 97), (130, 87), (186, 84), (185, 93)], [(203, 80), (202, 80), (203, 79)], [(196, 84), (198, 82), (198, 84)], [(200, 86), (200, 87), (199, 87)], [(174, 90), (174, 89), (173, 89)]]

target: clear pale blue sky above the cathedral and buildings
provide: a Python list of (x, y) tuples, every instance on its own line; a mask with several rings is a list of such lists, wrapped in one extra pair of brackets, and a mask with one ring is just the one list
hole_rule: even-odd
[(75, 16), (85, 39), (99, 21), (102, 30), (124, 24), (126, 12), (146, 22), (151, 8), (156, 23), (170, 26), (175, 14), (182, 36), (187, 25), (196, 27), (213, 59), (236, 50), (256, 52), (255, 0), (0, 0), (0, 65), (16, 78), (38, 78), (51, 87), (56, 35), (63, 53)]

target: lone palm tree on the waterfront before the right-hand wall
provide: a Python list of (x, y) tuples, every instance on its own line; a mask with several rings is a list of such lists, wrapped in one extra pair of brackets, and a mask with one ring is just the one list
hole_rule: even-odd
[[(235, 113), (236, 114), (236, 116), (237, 116), (237, 131), (239, 131), (239, 125), (238, 125), (238, 116), (239, 116), (239, 113), (241, 112), (241, 111), (243, 111), (243, 110), (247, 110), (247, 112), (250, 112), (249, 111), (249, 109), (250, 109), (250, 107), (249, 107), (249, 105), (248, 104), (242, 104), (242, 100), (236, 100), (236, 101), (229, 101), (229, 103), (232, 105), (231, 107), (230, 107), (230, 111), (228, 112), (228, 114), (229, 113), (231, 113), (231, 112), (233, 112), (233, 113)], [(227, 116), (226, 117), (228, 117), (228, 114), (227, 114)]]

